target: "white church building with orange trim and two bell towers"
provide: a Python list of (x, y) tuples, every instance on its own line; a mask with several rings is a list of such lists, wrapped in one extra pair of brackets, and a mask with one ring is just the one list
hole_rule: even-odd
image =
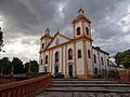
[(73, 20), (74, 38), (58, 31), (50, 36), (49, 28), (40, 38), (39, 72), (62, 72), (65, 77), (92, 78), (108, 71), (109, 54), (92, 45), (91, 22), (83, 10)]

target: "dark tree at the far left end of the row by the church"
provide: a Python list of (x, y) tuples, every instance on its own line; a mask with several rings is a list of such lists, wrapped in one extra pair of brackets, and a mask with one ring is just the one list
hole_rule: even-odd
[(8, 57), (0, 59), (0, 72), (2, 72), (2, 74), (11, 73), (11, 61)]

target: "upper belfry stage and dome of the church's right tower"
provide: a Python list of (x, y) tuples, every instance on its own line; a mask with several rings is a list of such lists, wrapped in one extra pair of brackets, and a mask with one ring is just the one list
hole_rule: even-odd
[(84, 17), (84, 11), (79, 9), (78, 17), (73, 20), (74, 39), (87, 37), (91, 39), (91, 22)]

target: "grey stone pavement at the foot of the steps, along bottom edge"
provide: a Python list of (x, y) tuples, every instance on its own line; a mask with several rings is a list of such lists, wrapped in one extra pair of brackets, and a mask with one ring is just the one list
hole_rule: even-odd
[(86, 92), (43, 92), (36, 97), (130, 97), (130, 94), (86, 93)]

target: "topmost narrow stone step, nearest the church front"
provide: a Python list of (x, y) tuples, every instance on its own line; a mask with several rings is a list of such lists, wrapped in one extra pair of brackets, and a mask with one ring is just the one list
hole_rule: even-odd
[(106, 79), (52, 79), (52, 81), (108, 81), (108, 80)]

